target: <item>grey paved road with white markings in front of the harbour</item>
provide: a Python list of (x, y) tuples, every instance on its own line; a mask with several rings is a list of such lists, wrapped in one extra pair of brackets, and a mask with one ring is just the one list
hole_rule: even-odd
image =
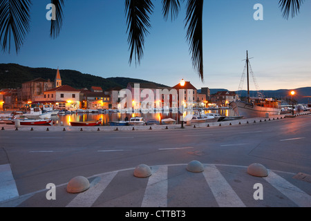
[[(159, 131), (0, 131), (0, 206), (310, 207), (310, 126), (311, 115), (303, 115)], [(187, 171), (192, 160), (205, 170)], [(253, 163), (269, 175), (249, 175)], [(152, 175), (133, 176), (139, 164)], [(67, 193), (78, 175), (90, 189)], [(46, 199), (49, 183), (56, 200)], [(263, 199), (255, 200), (260, 189)]]

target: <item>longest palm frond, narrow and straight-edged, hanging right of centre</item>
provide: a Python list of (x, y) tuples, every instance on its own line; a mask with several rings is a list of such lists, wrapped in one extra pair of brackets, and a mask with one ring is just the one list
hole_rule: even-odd
[(203, 49), (202, 49), (202, 11), (203, 0), (188, 0), (186, 25), (187, 41), (192, 54), (192, 65), (203, 81)]

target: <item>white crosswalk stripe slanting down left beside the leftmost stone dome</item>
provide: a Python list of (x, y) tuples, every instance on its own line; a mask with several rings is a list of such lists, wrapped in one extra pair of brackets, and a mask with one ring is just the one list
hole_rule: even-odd
[[(66, 207), (91, 207), (116, 174), (117, 172), (102, 175), (100, 182), (95, 185), (91, 183), (90, 189), (79, 193)], [(97, 182), (96, 179), (95, 182)]]

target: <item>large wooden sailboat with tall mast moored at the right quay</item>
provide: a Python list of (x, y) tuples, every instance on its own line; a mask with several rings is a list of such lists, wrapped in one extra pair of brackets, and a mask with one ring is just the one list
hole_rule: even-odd
[[(247, 97), (246, 101), (236, 99), (229, 103), (236, 115), (249, 117), (268, 117), (269, 115), (280, 115), (281, 102), (277, 99), (263, 98), (261, 93), (257, 93), (257, 97), (249, 96), (249, 69), (252, 68), (249, 65), (248, 51), (246, 51), (246, 69), (247, 69)], [(243, 73), (244, 74), (244, 73)], [(254, 77), (254, 75), (253, 75)], [(254, 80), (256, 87), (256, 81)], [(240, 88), (239, 88), (240, 89)], [(258, 88), (256, 88), (258, 91)]]

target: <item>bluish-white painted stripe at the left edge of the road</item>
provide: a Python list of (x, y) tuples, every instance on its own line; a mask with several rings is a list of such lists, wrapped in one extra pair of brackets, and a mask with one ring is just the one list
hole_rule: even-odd
[(0, 165), (0, 202), (19, 196), (10, 164)]

